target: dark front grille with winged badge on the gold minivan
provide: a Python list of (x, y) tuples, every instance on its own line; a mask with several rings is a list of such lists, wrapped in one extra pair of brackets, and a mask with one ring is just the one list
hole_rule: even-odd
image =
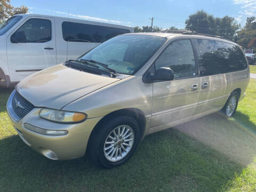
[(15, 113), (20, 117), (25, 117), (35, 106), (24, 99), (17, 91), (15, 91), (12, 99), (12, 108)]

